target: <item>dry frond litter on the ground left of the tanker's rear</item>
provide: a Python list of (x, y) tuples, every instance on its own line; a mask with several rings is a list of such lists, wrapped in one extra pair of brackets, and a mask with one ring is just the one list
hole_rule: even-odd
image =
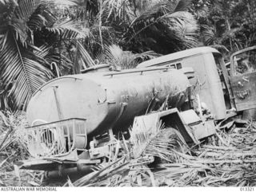
[(0, 186), (40, 186), (42, 171), (19, 170), (16, 165), (29, 157), (24, 137), (26, 116), (2, 112), (0, 116)]

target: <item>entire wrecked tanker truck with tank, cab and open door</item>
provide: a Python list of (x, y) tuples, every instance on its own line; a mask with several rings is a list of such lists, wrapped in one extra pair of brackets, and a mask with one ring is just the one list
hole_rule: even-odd
[(253, 77), (234, 74), (239, 54), (231, 57), (230, 76), (221, 53), (202, 47), (145, 61), (137, 69), (106, 72), (108, 65), (99, 65), (49, 81), (27, 108), (34, 159), (22, 168), (47, 170), (49, 177), (86, 174), (118, 158), (122, 144), (117, 138), (122, 132), (126, 145), (133, 121), (133, 128), (165, 123), (188, 145), (197, 144), (214, 134), (214, 120), (225, 119), (226, 109), (255, 108), (248, 103), (254, 102)]

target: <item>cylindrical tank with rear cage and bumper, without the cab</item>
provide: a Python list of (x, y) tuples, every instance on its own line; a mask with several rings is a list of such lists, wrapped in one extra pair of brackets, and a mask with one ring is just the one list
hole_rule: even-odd
[(50, 80), (34, 93), (26, 110), (28, 150), (34, 158), (22, 168), (47, 170), (49, 177), (60, 166), (65, 167), (62, 174), (86, 173), (112, 159), (116, 136), (125, 135), (135, 116), (165, 102), (170, 108), (187, 102), (190, 82), (182, 70), (95, 70)]

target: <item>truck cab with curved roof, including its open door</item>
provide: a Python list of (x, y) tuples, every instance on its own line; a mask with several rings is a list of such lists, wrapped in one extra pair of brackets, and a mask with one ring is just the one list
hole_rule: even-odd
[(137, 68), (169, 66), (175, 69), (191, 67), (190, 79), (194, 108), (206, 104), (214, 120), (226, 118), (226, 109), (235, 108), (246, 116), (256, 116), (256, 46), (242, 49), (230, 57), (227, 69), (222, 54), (210, 47), (187, 49), (142, 62)]

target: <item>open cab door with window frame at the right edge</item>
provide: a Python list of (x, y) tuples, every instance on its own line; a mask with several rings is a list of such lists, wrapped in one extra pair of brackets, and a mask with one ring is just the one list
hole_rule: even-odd
[(237, 111), (256, 108), (256, 46), (231, 56), (230, 84)]

